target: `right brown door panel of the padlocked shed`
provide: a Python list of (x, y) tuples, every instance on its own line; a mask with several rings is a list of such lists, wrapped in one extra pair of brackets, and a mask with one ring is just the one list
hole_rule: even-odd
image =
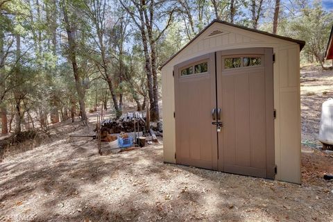
[[(217, 98), (223, 121), (218, 135), (221, 171), (274, 177), (272, 53), (262, 48), (218, 53)], [(230, 65), (230, 58), (237, 62)], [(249, 65), (243, 58), (259, 58), (260, 64)]]

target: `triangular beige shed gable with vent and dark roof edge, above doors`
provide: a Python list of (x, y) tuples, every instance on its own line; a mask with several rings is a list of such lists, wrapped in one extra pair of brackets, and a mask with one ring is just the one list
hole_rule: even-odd
[[(299, 44), (301, 50), (305, 42), (215, 19), (182, 49), (171, 56), (169, 60), (164, 62), (160, 69), (171, 61), (182, 62), (194, 55), (200, 56), (214, 51), (252, 47), (276, 48), (295, 44)], [(171, 64), (174, 65), (175, 63), (171, 62)]]

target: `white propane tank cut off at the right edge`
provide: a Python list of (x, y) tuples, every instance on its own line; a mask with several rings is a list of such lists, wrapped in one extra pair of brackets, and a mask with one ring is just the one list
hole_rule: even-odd
[(321, 107), (321, 124), (319, 126), (319, 141), (323, 145), (333, 145), (333, 99), (327, 99)]

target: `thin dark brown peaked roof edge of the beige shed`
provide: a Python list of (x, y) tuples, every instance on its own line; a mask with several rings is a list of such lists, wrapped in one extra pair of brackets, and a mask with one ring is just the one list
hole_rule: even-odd
[[(225, 24), (225, 25), (228, 25), (228, 26), (233, 26), (233, 27), (236, 27), (236, 28), (241, 28), (241, 29), (244, 29), (244, 30), (247, 30), (247, 31), (252, 31), (252, 32), (255, 32), (255, 33), (260, 33), (260, 34), (263, 34), (263, 35), (268, 35), (268, 36), (271, 36), (271, 37), (277, 37), (279, 39), (287, 40), (289, 42), (296, 42), (296, 43), (300, 44), (300, 50), (302, 50), (303, 47), (305, 46), (305, 41), (302, 41), (302, 40), (295, 40), (291, 37), (284, 37), (284, 36), (281, 36), (281, 35), (275, 35), (275, 34), (272, 34), (272, 33), (259, 31), (259, 30), (253, 29), (253, 28), (248, 28), (248, 27), (245, 27), (245, 26), (240, 26), (240, 25), (237, 25), (237, 24), (232, 24), (232, 23), (229, 23), (229, 22), (221, 21), (219, 19), (214, 19), (208, 26), (203, 28), (203, 30), (200, 31), (200, 33), (198, 33), (193, 39), (191, 39), (191, 41), (187, 42), (187, 44), (185, 44), (185, 46), (183, 46), (182, 49), (180, 49), (173, 56), (171, 56), (166, 62), (164, 62), (160, 66), (160, 69), (162, 69), (162, 67), (164, 67), (164, 65), (167, 65), (168, 62), (170, 62), (173, 58), (175, 58), (183, 49), (185, 49), (189, 44), (191, 44), (191, 42), (196, 40), (197, 37), (199, 37), (202, 33), (204, 33), (207, 30), (207, 28), (210, 28), (210, 26), (212, 26), (212, 24), (214, 24), (215, 22), (220, 23), (220, 24)], [(332, 33), (331, 33), (331, 35), (332, 35)]]

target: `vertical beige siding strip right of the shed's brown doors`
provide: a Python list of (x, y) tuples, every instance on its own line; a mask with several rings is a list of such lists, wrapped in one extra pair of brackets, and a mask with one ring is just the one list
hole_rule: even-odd
[[(275, 101), (275, 162), (278, 180), (300, 183), (300, 48), (298, 44), (281, 47), (276, 56), (280, 71), (280, 99)], [(279, 114), (280, 113), (280, 114)], [(279, 130), (280, 132), (276, 132)], [(279, 137), (280, 135), (280, 137)]]

